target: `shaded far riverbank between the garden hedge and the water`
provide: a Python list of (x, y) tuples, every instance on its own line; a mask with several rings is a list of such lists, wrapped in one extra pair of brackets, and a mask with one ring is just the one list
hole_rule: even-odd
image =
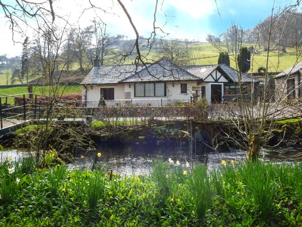
[[(301, 129), (301, 119), (277, 122), (267, 149), (276, 145), (299, 147), (302, 144)], [(84, 125), (50, 121), (47, 128), (43, 124), (24, 126), (10, 136), (1, 138), (1, 144), (17, 150), (55, 149), (62, 160), (72, 162), (75, 155), (95, 152), (103, 144), (186, 146), (191, 151), (197, 144), (203, 152), (212, 150), (211, 147), (216, 145), (216, 150), (228, 151), (230, 147), (242, 149), (237, 147), (238, 143), (244, 144), (237, 130), (236, 127), (232, 128), (232, 124), (222, 121), (99, 121)], [(36, 147), (39, 144), (42, 146)]]

